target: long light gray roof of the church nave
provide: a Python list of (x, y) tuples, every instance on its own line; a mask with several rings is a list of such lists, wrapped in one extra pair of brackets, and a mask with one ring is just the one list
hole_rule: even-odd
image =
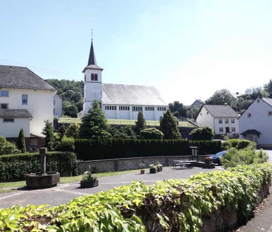
[(154, 86), (102, 84), (102, 104), (168, 106)]

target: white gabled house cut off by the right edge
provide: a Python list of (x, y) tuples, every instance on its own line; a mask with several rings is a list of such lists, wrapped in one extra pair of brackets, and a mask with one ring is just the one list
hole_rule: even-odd
[(272, 99), (256, 98), (238, 120), (240, 139), (272, 147)]

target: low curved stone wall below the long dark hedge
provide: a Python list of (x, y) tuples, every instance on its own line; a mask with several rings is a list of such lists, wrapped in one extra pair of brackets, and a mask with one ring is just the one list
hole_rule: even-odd
[(145, 168), (149, 168), (149, 165), (155, 164), (156, 161), (159, 161), (163, 167), (169, 167), (173, 165), (173, 160), (191, 158), (191, 155), (187, 155), (80, 161), (78, 162), (78, 173), (82, 174), (84, 171), (92, 170), (93, 167), (96, 167), (100, 172), (136, 170), (140, 169), (139, 163), (144, 163)]

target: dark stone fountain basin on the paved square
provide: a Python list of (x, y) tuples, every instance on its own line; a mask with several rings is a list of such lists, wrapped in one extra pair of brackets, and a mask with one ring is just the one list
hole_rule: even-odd
[(26, 175), (26, 185), (29, 188), (49, 188), (54, 187), (60, 181), (59, 172), (46, 172), (42, 175), (41, 172), (31, 173)]

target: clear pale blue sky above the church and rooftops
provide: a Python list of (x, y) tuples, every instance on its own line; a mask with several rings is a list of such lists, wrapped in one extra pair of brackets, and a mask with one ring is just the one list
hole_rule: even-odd
[(83, 80), (93, 29), (104, 83), (190, 105), (272, 79), (271, 11), (271, 0), (2, 0), (0, 64)]

